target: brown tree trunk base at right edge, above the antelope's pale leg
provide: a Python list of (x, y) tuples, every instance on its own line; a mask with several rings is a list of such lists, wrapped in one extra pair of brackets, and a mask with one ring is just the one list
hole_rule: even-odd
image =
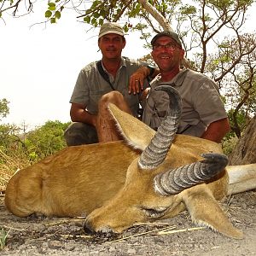
[(253, 163), (256, 163), (256, 115), (250, 120), (229, 158), (230, 166)]

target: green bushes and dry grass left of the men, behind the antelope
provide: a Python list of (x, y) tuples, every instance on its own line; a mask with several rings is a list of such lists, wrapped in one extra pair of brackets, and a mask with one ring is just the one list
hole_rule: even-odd
[(16, 125), (0, 125), (0, 191), (17, 170), (65, 148), (67, 125), (48, 121), (29, 132)]

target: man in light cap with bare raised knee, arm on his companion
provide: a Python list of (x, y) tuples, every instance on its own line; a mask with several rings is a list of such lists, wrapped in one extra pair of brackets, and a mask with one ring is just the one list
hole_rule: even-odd
[(117, 23), (102, 25), (98, 46), (102, 60), (82, 68), (70, 99), (73, 124), (64, 134), (68, 146), (118, 140), (108, 103), (137, 116), (142, 95), (138, 92), (144, 80), (154, 74), (154, 68), (146, 63), (121, 56), (125, 37)]

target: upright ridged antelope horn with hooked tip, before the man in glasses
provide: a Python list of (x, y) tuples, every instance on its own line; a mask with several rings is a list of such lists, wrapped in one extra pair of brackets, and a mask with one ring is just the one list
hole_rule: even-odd
[(148, 147), (145, 148), (138, 160), (138, 166), (142, 169), (153, 169), (166, 159), (166, 154), (171, 148), (181, 116), (182, 103), (177, 90), (170, 85), (161, 85), (155, 90), (167, 92), (170, 98), (170, 109), (166, 119), (161, 122)]

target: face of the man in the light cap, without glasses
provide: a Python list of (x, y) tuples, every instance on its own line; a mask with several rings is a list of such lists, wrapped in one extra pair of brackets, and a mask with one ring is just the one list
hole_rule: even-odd
[(122, 49), (125, 47), (125, 39), (117, 34), (107, 34), (99, 38), (98, 45), (104, 57), (115, 59), (121, 56)]

